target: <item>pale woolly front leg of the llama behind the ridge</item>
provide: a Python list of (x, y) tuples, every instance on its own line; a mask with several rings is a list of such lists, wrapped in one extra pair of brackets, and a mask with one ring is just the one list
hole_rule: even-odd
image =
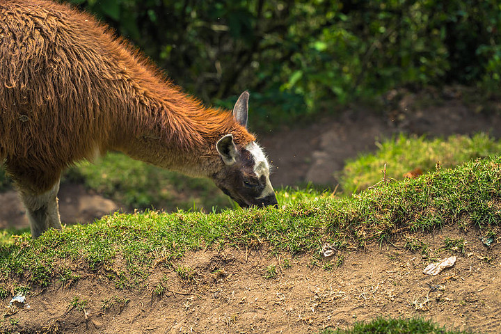
[(22, 189), (19, 191), (26, 208), (26, 215), (29, 218), (31, 237), (33, 239), (40, 237), (40, 234), (49, 228), (61, 230), (57, 199), (58, 191), (59, 180), (45, 193), (31, 193)]

